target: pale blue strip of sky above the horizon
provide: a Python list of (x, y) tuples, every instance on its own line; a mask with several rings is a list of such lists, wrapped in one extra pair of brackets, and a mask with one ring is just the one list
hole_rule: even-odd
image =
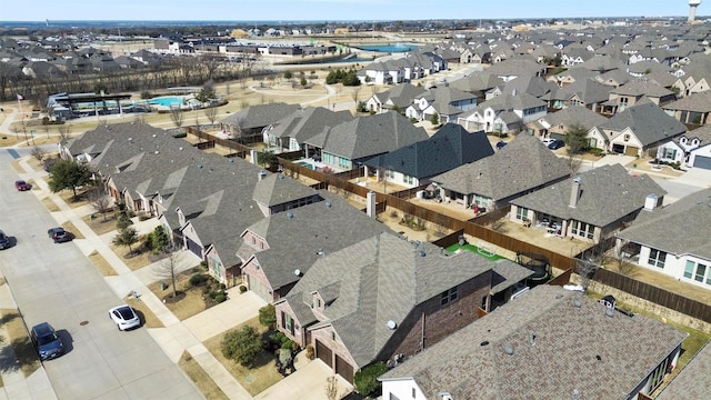
[[(704, 0), (708, 1), (708, 0)], [(702, 3), (697, 14), (704, 16)], [(681, 17), (688, 0), (0, 0), (0, 21)]]

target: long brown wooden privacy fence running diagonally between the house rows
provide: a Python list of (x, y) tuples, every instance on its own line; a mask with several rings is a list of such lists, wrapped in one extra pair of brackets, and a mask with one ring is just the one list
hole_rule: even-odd
[[(207, 141), (212, 141), (213, 143), (234, 150), (234, 153), (230, 154), (231, 157), (244, 158), (252, 150), (251, 148), (240, 144), (236, 141), (221, 139), (204, 132), (200, 132), (198, 129), (194, 129), (192, 127), (186, 128), (186, 131), (191, 134), (199, 136)], [(303, 176), (313, 179), (318, 181), (318, 183), (311, 186), (314, 189), (329, 189), (330, 187), (334, 187), (339, 190), (344, 190), (362, 198), (368, 197), (368, 192), (370, 191), (370, 189), (350, 182), (351, 179), (361, 176), (360, 170), (352, 170), (338, 174), (323, 173), (290, 161), (299, 158), (300, 152), (290, 152), (280, 156), (284, 156), (278, 157), (279, 163), (283, 168), (284, 174), (291, 177)], [(452, 230), (452, 233), (434, 242), (434, 244), (440, 247), (449, 247), (455, 243), (459, 240), (459, 237), (465, 233), (513, 252), (534, 252), (543, 254), (548, 257), (552, 267), (567, 271), (554, 281), (554, 284), (561, 284), (564, 280), (569, 280), (570, 272), (575, 268), (575, 261), (573, 258), (559, 254), (548, 249), (540, 248), (535, 244), (527, 243), (483, 226), (505, 216), (505, 213), (509, 212), (508, 209), (492, 210), (469, 221), (461, 221), (434, 210), (430, 210), (409, 202), (408, 200), (414, 197), (418, 190), (421, 190), (421, 188), (408, 189), (392, 194), (375, 192), (377, 212), (384, 212), (385, 207), (391, 207), (400, 210), (403, 213), (411, 214), (415, 218), (421, 218), (423, 220)], [(638, 298), (654, 302), (662, 307), (681, 312), (685, 316), (711, 323), (711, 306), (709, 304), (669, 292), (667, 290), (634, 280), (630, 277), (620, 274), (611, 270), (598, 269), (592, 279)]]

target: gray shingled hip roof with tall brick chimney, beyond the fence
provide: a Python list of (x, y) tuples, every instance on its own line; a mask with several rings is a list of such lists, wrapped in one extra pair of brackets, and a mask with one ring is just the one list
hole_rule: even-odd
[[(573, 179), (580, 179), (578, 204), (570, 207)], [(649, 194), (667, 194), (647, 176), (632, 177), (620, 164), (603, 166), (511, 201), (535, 212), (605, 227), (640, 210)], [(600, 197), (604, 196), (604, 201)]]

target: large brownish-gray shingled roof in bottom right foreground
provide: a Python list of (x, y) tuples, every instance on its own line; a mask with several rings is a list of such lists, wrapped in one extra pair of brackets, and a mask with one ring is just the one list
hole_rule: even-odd
[(685, 337), (544, 284), (379, 379), (414, 379), (428, 399), (625, 399)]

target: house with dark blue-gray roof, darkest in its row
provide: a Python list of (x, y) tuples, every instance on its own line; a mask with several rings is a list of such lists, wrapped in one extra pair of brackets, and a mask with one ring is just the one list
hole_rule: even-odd
[(433, 176), (491, 154), (484, 132), (470, 133), (462, 126), (445, 123), (429, 139), (365, 161), (365, 176), (372, 169), (378, 180), (418, 188), (430, 183)]

